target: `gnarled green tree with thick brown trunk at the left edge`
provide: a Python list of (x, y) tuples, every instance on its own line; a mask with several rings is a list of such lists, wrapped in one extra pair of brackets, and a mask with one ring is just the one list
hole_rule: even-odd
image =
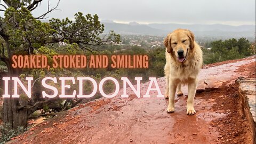
[[(104, 26), (99, 22), (98, 16), (81, 12), (75, 14), (75, 21), (68, 18), (59, 20), (51, 19), (49, 23), (39, 21), (45, 19), (46, 15), (57, 6), (34, 17), (31, 11), (37, 9), (43, 0), (5, 0), (0, 1), (3, 8), (4, 17), (0, 17), (0, 42), (2, 49), (0, 51), (0, 61), (3, 61), (8, 69), (9, 77), (18, 77), (22, 79), (23, 69), (14, 69), (11, 67), (11, 58), (14, 54), (37, 54), (44, 53), (50, 57), (53, 50), (59, 50), (59, 43), (65, 43), (67, 51), (74, 49), (84, 51), (94, 51), (93, 46), (107, 43), (119, 42), (119, 35), (110, 31), (107, 37), (100, 37)], [(47, 48), (47, 47), (50, 47)], [(72, 48), (72, 50), (70, 50)], [(40, 78), (47, 74), (45, 70), (39, 69), (30, 71), (30, 75)], [(51, 74), (57, 71), (52, 70)], [(10, 92), (13, 84), (9, 85)], [(35, 86), (36, 87), (36, 86)], [(5, 98), (3, 103), (3, 121), (10, 123), (11, 128), (17, 129), (18, 126), (27, 126), (27, 119), (35, 110), (50, 106), (53, 99), (40, 99), (40, 93), (33, 93), (33, 99), (14, 99)], [(54, 100), (56, 101), (56, 100)]]

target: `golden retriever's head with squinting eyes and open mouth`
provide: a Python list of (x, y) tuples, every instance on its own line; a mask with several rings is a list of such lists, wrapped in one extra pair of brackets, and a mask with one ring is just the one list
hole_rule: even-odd
[(191, 31), (177, 29), (167, 35), (164, 45), (168, 53), (172, 53), (179, 62), (183, 62), (186, 60), (189, 51), (194, 49), (194, 40), (195, 37)]

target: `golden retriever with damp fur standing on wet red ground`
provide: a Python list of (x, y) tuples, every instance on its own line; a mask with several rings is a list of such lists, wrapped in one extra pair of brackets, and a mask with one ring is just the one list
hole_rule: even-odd
[[(186, 29), (174, 30), (164, 40), (166, 47), (165, 98), (169, 98), (167, 113), (174, 112), (174, 97), (178, 87), (178, 96), (183, 95), (181, 84), (188, 84), (187, 114), (194, 115), (194, 97), (197, 87), (197, 75), (203, 64), (201, 47), (195, 42), (194, 34)], [(178, 51), (183, 50), (185, 60), (178, 60)]]

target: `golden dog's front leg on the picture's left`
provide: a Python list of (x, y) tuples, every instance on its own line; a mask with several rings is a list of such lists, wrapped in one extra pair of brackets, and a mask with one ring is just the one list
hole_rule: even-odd
[(174, 112), (174, 98), (176, 93), (177, 84), (173, 82), (172, 79), (169, 79), (169, 103), (167, 107), (167, 113)]

